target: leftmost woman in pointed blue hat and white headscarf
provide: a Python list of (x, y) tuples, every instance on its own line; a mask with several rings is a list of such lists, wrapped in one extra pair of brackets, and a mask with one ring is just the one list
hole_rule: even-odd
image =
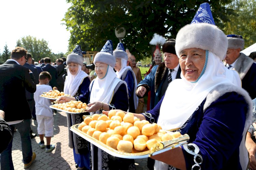
[[(71, 54), (67, 56), (67, 73), (64, 84), (64, 93), (73, 97), (82, 96), (89, 88), (91, 79), (81, 70), (83, 66), (83, 54), (81, 47), (77, 45)], [(67, 113), (68, 128), (83, 121), (84, 114)], [(79, 169), (89, 168), (88, 142), (82, 137), (69, 131), (69, 147), (73, 148), (75, 163)]]

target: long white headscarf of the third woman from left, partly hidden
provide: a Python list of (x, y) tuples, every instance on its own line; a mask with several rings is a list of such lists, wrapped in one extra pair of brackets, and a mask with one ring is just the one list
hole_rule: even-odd
[[(121, 68), (119, 71), (116, 71), (116, 76), (118, 79), (120, 79), (125, 72), (126, 69), (130, 69), (132, 71), (132, 68), (130, 66), (127, 66), (127, 60), (120, 58), (121, 59)], [(133, 73), (133, 79), (134, 79), (134, 91), (133, 91), (133, 101), (134, 101), (134, 108), (137, 109), (139, 99), (136, 95), (136, 88), (137, 88), (137, 80), (136, 80), (136, 75)]]

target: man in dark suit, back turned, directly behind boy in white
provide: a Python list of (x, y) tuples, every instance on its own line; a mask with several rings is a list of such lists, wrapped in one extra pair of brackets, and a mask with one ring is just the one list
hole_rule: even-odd
[(45, 64), (45, 66), (42, 67), (42, 70), (48, 71), (52, 76), (52, 80), (49, 82), (49, 85), (51, 87), (57, 87), (57, 85), (58, 85), (57, 84), (57, 78), (58, 78), (57, 70), (54, 66), (51, 65), (51, 58), (45, 57), (44, 64)]

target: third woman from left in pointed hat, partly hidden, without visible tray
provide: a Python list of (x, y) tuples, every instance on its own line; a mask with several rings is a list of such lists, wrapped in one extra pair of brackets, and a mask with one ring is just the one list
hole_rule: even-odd
[(128, 55), (122, 43), (118, 43), (113, 55), (116, 60), (115, 70), (117, 78), (125, 81), (128, 87), (129, 112), (135, 113), (138, 106), (138, 99), (136, 97), (137, 80), (132, 68), (127, 66)]

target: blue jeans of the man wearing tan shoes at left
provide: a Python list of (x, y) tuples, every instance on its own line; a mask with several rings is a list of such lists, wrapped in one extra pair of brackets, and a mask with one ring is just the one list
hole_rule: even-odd
[[(23, 162), (24, 164), (28, 164), (31, 161), (33, 154), (29, 133), (30, 119), (23, 120), (17, 124), (12, 124), (10, 125), (10, 128), (12, 130), (12, 134), (14, 133), (14, 128), (19, 131), (22, 145)], [(8, 147), (0, 154), (1, 170), (14, 170), (12, 162), (12, 141), (13, 139), (9, 143)]]

